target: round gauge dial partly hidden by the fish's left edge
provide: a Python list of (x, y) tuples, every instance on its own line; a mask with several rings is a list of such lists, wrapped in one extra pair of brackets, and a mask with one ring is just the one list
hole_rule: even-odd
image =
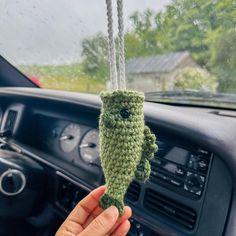
[(99, 157), (99, 133), (89, 130), (80, 143), (80, 156), (87, 163), (94, 163)]

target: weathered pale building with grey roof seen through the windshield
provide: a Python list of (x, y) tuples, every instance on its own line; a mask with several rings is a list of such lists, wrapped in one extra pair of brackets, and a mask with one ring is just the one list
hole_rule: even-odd
[(133, 58), (126, 63), (127, 87), (143, 92), (173, 90), (179, 72), (199, 68), (189, 52)]

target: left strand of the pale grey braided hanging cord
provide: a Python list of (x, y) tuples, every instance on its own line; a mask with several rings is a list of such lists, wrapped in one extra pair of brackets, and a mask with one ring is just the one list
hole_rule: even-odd
[(108, 21), (108, 51), (110, 64), (110, 79), (112, 89), (118, 88), (117, 68), (116, 68), (116, 51), (113, 32), (113, 16), (112, 16), (112, 0), (106, 0), (107, 5), (107, 21)]

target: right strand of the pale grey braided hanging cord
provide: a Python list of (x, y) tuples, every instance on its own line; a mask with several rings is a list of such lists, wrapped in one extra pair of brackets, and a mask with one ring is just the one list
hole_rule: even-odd
[(126, 89), (125, 81), (125, 35), (124, 35), (124, 15), (123, 15), (123, 0), (117, 0), (118, 13), (118, 36), (119, 36), (119, 65), (118, 65), (118, 83), (119, 88)]

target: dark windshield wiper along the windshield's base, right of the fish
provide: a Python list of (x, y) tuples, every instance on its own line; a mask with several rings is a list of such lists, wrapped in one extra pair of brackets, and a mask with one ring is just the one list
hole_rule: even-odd
[(146, 101), (183, 105), (236, 108), (236, 95), (198, 90), (157, 91), (145, 93)]

